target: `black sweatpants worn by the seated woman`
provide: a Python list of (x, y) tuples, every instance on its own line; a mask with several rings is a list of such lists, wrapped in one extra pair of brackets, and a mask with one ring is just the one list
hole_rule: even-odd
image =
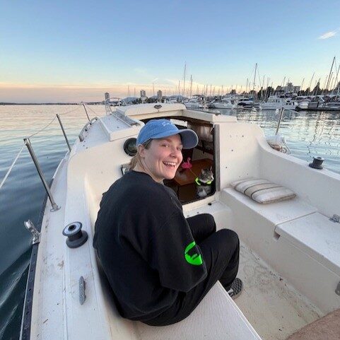
[(201, 248), (208, 275), (189, 292), (180, 292), (175, 303), (152, 320), (143, 321), (151, 326), (175, 324), (185, 319), (199, 305), (211, 287), (220, 281), (228, 291), (238, 274), (240, 242), (233, 230), (216, 231), (216, 224), (209, 213), (187, 218), (192, 235)]

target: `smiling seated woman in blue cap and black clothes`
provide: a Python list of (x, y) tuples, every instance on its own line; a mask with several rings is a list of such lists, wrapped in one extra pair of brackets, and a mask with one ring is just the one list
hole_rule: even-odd
[[(228, 291), (238, 272), (239, 241), (213, 217), (184, 218), (163, 180), (175, 177), (182, 148), (194, 148), (190, 129), (168, 119), (139, 132), (131, 171), (103, 195), (93, 246), (123, 317), (154, 326), (187, 317), (220, 280)], [(234, 281), (235, 280), (235, 281)], [(242, 288), (241, 286), (239, 288)], [(239, 290), (240, 291), (240, 290)]]

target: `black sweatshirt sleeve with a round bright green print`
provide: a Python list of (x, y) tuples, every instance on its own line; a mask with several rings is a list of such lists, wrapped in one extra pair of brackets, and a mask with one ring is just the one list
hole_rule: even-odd
[(153, 235), (150, 262), (162, 286), (187, 292), (206, 278), (206, 264), (199, 246), (180, 211)]

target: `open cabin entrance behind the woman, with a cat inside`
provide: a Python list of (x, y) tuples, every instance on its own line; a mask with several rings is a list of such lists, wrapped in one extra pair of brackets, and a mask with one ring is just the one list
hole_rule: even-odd
[[(182, 204), (211, 196), (216, 191), (212, 124), (187, 117), (172, 117), (170, 120), (178, 129), (194, 130), (199, 143), (195, 148), (182, 150), (183, 160), (175, 178), (164, 180), (164, 184), (177, 194)], [(143, 120), (144, 123), (147, 121)]]

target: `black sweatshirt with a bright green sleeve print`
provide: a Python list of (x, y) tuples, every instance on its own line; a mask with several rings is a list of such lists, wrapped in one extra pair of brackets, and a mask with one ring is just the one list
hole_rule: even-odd
[(206, 277), (175, 192), (143, 172), (127, 172), (105, 192), (93, 247), (131, 320), (156, 317)]

